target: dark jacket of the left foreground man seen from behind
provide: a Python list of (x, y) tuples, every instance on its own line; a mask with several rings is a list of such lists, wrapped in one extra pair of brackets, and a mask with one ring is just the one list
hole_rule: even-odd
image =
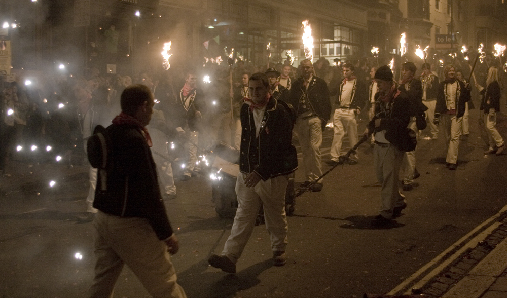
[(112, 148), (106, 169), (98, 172), (93, 207), (111, 215), (146, 218), (160, 240), (169, 238), (173, 231), (160, 195), (155, 162), (141, 130), (134, 125), (112, 124), (106, 134)]

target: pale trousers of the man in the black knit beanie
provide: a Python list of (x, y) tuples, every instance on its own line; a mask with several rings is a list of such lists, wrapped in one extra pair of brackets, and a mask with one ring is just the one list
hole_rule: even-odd
[(377, 180), (382, 184), (380, 215), (391, 219), (393, 209), (405, 203), (405, 197), (400, 193), (398, 187), (398, 175), (404, 152), (396, 146), (381, 147), (375, 144), (373, 154)]

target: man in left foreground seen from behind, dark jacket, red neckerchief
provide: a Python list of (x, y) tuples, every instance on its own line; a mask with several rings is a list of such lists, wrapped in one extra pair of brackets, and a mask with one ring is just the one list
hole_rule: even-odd
[(89, 297), (110, 297), (124, 264), (154, 297), (186, 297), (169, 253), (178, 251), (157, 182), (146, 129), (154, 105), (143, 85), (121, 95), (122, 113), (106, 129), (111, 153), (100, 170), (93, 206), (95, 278)]

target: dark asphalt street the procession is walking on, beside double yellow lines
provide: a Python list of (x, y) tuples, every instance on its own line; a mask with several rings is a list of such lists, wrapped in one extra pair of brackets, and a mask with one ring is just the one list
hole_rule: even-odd
[[(483, 154), (484, 130), (477, 119), (478, 111), (472, 110), (470, 136), (461, 141), (456, 171), (444, 165), (442, 133), (438, 140), (419, 140), (419, 185), (404, 192), (408, 208), (389, 229), (369, 225), (378, 214), (380, 188), (372, 149), (362, 145), (357, 165), (335, 168), (324, 178), (322, 192), (297, 199), (295, 214), (288, 218), (288, 259), (283, 267), (271, 266), (264, 225), (253, 231), (237, 274), (208, 266), (207, 257), (222, 251), (232, 220), (215, 213), (207, 177), (177, 181), (178, 197), (165, 203), (181, 245), (172, 259), (179, 283), (189, 298), (361, 297), (365, 292), (389, 292), (507, 204), (507, 155)], [(506, 122), (501, 117), (503, 136)], [(324, 160), (331, 140), (328, 130)], [(0, 178), (0, 297), (86, 296), (95, 260), (92, 226), (79, 223), (76, 216), (86, 210), (87, 169), (19, 164), (13, 171)], [(51, 179), (57, 182), (53, 188), (48, 186)], [(300, 169), (296, 181), (303, 180)], [(114, 296), (149, 295), (125, 268)]]

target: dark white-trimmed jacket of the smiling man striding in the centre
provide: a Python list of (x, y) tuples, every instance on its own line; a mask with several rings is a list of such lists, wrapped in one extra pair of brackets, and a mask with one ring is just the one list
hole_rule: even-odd
[(239, 170), (255, 171), (266, 181), (294, 172), (298, 168), (296, 148), (292, 145), (293, 122), (289, 111), (272, 96), (264, 111), (259, 136), (248, 104), (241, 107), (241, 154)]

